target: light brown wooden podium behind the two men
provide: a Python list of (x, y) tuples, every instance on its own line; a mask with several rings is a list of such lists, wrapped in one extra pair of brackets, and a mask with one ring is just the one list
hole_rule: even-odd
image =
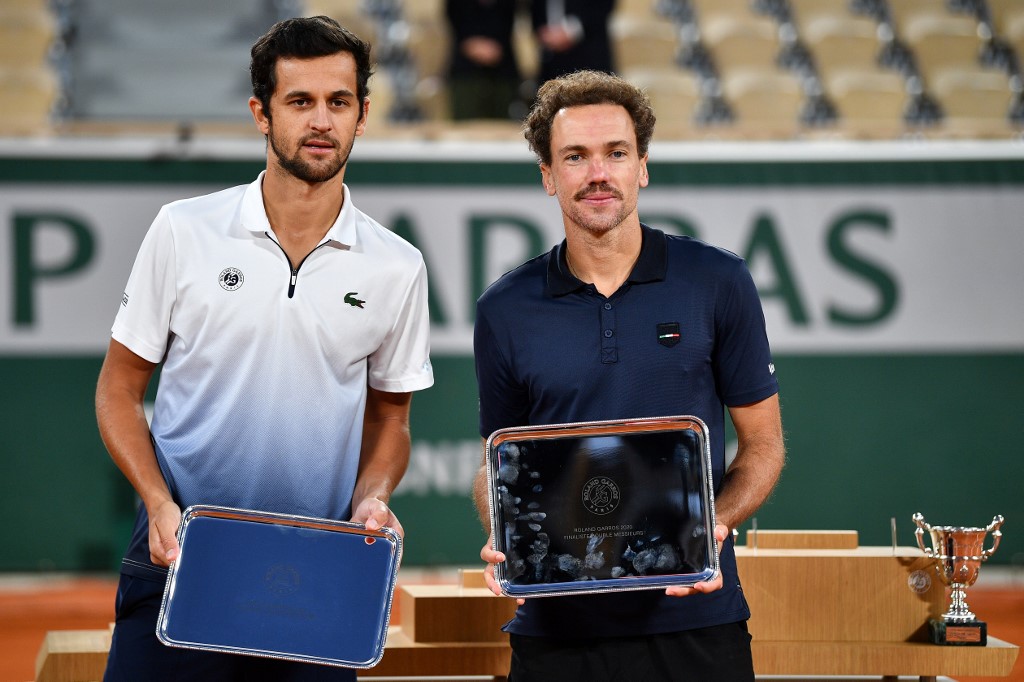
[[(834, 540), (849, 542), (842, 534)], [(984, 647), (927, 641), (927, 620), (944, 610), (946, 597), (918, 548), (822, 549), (820, 538), (799, 542), (818, 548), (736, 548), (754, 613), (759, 678), (1011, 674), (1019, 648), (991, 635)], [(510, 649), (501, 626), (515, 602), (483, 588), (481, 571), (464, 571), (458, 583), (399, 586), (397, 592), (398, 622), (388, 631), (384, 657), (360, 671), (360, 678), (507, 674)], [(99, 679), (109, 644), (109, 631), (48, 633), (37, 682)]]

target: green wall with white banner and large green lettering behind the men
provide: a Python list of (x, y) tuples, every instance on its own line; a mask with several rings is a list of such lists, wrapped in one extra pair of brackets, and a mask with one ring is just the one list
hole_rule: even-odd
[[(909, 545), (918, 511), (1002, 514), (992, 561), (1024, 564), (1024, 153), (658, 151), (641, 217), (743, 255), (765, 304), (788, 462), (758, 527), (888, 545), (895, 518)], [(497, 156), (368, 153), (346, 177), (431, 273), (436, 383), (393, 501), (407, 565), (478, 561), (472, 302), (560, 239), (531, 160)], [(259, 150), (0, 156), (0, 571), (116, 569), (135, 497), (92, 411), (116, 300), (162, 203), (260, 168)]]

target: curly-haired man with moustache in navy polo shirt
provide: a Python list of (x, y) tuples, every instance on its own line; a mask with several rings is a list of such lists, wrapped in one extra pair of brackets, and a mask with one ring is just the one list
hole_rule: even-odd
[[(615, 76), (542, 86), (526, 119), (565, 241), (477, 303), (480, 435), (511, 426), (694, 415), (709, 428), (721, 574), (693, 588), (545, 597), (505, 627), (511, 682), (753, 680), (750, 616), (730, 530), (784, 462), (778, 383), (757, 290), (740, 258), (640, 222), (654, 115)], [(738, 447), (726, 468), (725, 409)], [(481, 468), (475, 499), (484, 526)], [(489, 528), (488, 528), (489, 530)], [(486, 580), (505, 557), (488, 541)]]

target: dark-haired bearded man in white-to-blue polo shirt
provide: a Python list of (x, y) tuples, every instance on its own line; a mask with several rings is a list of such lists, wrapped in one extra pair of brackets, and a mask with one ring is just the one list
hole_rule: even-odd
[[(370, 46), (324, 16), (252, 49), (267, 138), (248, 186), (169, 204), (139, 250), (96, 391), (139, 497), (106, 680), (351, 680), (346, 669), (165, 647), (155, 636), (181, 510), (216, 504), (401, 530), (412, 391), (433, 383), (423, 258), (344, 185)], [(142, 412), (160, 364), (153, 424)]]

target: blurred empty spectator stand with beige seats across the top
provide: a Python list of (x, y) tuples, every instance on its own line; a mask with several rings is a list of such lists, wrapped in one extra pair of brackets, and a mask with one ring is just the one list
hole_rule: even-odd
[[(49, 130), (59, 115), (77, 130), (248, 123), (252, 41), (301, 13), (333, 16), (374, 46), (369, 134), (446, 134), (443, 0), (67, 7), (0, 6), (8, 133)], [(67, 27), (76, 40), (58, 61)], [(618, 72), (647, 91), (662, 139), (787, 138), (833, 121), (828, 131), (851, 138), (898, 137), (936, 121), (921, 130), (991, 137), (1018, 135), (1013, 121), (1024, 123), (1024, 0), (618, 0), (609, 29)], [(539, 51), (525, 11), (514, 44), (526, 92)], [(508, 129), (460, 126), (452, 135), (493, 139)]]

